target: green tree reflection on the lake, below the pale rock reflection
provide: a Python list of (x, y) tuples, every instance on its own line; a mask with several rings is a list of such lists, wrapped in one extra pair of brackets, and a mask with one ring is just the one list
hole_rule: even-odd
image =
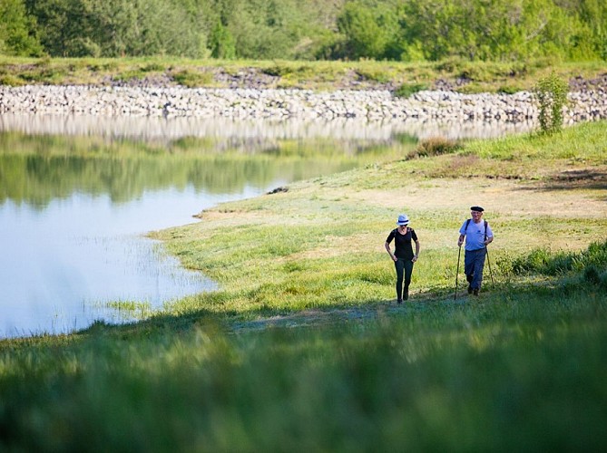
[[(27, 136), (0, 133), (0, 201), (36, 207), (73, 192), (108, 194), (114, 202), (144, 191), (193, 187), (210, 194), (268, 188), (351, 169), (393, 149), (372, 143), (335, 140), (238, 140), (187, 138), (165, 146), (101, 137)], [(344, 148), (354, 149), (345, 151)]]

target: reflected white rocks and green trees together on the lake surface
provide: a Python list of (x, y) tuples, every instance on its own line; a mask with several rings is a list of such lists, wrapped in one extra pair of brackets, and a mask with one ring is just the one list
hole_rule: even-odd
[(3, 115), (0, 201), (44, 207), (74, 191), (114, 202), (145, 190), (266, 188), (406, 154), (417, 138), (494, 137), (525, 123)]

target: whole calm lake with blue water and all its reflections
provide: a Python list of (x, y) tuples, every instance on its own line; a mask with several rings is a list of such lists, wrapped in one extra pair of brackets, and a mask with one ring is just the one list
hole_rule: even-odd
[(216, 284), (145, 234), (302, 178), (397, 159), (418, 137), (526, 124), (0, 117), (0, 337), (131, 322)]

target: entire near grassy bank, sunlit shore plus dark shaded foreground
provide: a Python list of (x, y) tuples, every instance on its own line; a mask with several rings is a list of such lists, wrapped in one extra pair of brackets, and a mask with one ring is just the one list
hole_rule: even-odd
[[(403, 156), (154, 233), (220, 290), (0, 342), (0, 448), (604, 449), (606, 130)], [(454, 300), (473, 204), (494, 283)], [(422, 252), (399, 307), (383, 245), (402, 211)]]

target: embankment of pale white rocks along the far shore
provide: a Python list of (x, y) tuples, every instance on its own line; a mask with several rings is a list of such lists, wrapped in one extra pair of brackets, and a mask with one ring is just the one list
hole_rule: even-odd
[[(576, 85), (566, 123), (607, 119), (607, 90)], [(0, 86), (0, 113), (231, 119), (529, 121), (537, 118), (531, 92), (462, 94), (388, 90), (314, 92), (282, 89), (190, 89), (171, 86)]]

